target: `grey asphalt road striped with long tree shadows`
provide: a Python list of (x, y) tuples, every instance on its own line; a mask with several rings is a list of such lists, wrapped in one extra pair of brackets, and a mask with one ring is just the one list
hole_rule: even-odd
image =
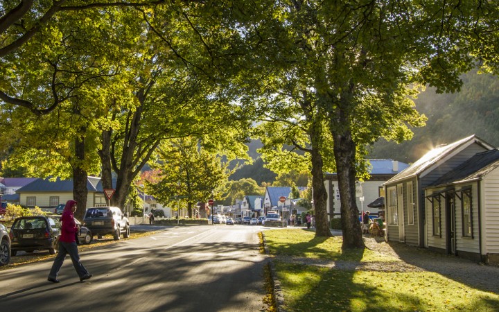
[(58, 284), (52, 260), (1, 271), (0, 311), (265, 311), (261, 226), (157, 229), (82, 252), (84, 282), (69, 257)]

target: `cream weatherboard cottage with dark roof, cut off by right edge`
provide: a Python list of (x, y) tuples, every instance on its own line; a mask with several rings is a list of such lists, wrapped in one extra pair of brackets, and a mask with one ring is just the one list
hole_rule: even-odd
[(499, 150), (475, 154), (425, 189), (426, 246), (499, 263)]

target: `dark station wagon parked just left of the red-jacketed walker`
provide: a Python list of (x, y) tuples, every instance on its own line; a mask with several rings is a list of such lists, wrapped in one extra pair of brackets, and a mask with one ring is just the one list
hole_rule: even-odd
[(33, 252), (47, 249), (50, 254), (55, 254), (58, 250), (60, 223), (49, 216), (19, 217), (12, 223), (9, 237), (12, 256), (21, 250)]

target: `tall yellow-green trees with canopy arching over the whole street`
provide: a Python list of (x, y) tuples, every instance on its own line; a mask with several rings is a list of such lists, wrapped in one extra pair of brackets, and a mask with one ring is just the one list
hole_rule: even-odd
[(455, 92), (476, 64), (496, 71), (498, 6), (6, 1), (0, 130), (19, 164), (72, 175), (82, 203), (89, 173), (105, 188), (114, 173), (117, 205), (155, 153), (166, 161), (164, 142), (195, 137), (229, 160), (259, 137), (273, 171), (310, 171), (317, 236), (331, 235), (323, 172), (338, 173), (343, 248), (363, 247), (355, 181), (366, 147), (424, 125), (419, 87)]

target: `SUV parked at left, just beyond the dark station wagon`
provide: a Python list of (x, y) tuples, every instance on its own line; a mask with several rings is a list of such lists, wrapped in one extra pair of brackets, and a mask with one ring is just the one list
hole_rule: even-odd
[(87, 227), (92, 235), (112, 234), (115, 241), (130, 237), (130, 223), (118, 207), (91, 207), (87, 209), (83, 226)]

